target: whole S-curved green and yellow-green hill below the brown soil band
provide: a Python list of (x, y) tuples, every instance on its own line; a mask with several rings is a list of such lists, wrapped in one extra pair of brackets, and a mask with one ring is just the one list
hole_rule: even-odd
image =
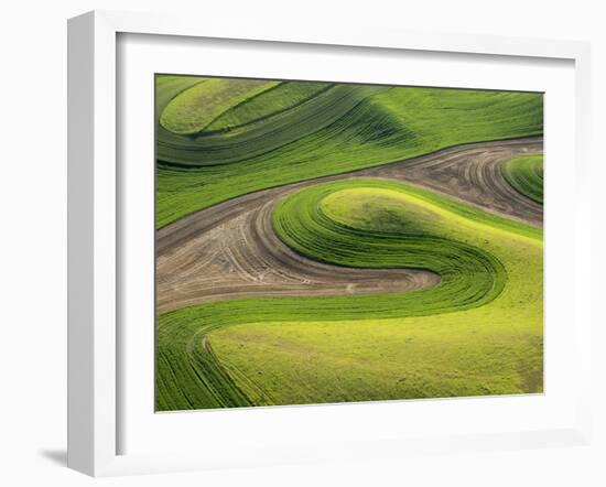
[(162, 314), (159, 410), (542, 391), (541, 230), (382, 180), (301, 190), (273, 226), (316, 260), (421, 268), (442, 281)]

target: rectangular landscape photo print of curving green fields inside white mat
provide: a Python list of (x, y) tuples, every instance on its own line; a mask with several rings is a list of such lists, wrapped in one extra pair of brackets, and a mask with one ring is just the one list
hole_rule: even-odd
[(154, 83), (156, 411), (543, 392), (543, 94)]

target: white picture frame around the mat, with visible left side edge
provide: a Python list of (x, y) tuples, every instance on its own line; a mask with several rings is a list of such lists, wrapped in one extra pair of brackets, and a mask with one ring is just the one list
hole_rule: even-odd
[[(120, 357), (119, 267), (121, 255), (118, 171), (118, 36), (170, 35), (178, 39), (223, 39), (297, 43), (302, 45), (404, 50), (419, 53), (567, 59), (574, 63), (575, 132), (575, 340), (580, 378), (578, 409), (566, 428), (415, 439), (369, 441), (342, 447), (260, 450), (250, 458), (195, 453), (119, 454), (119, 403), (123, 391), (118, 374)], [(411, 452), (456, 453), (586, 444), (591, 437), (589, 349), (591, 213), (589, 213), (589, 46), (582, 42), (541, 41), (354, 29), (331, 31), (281, 29), (280, 25), (232, 24), (220, 19), (95, 11), (68, 23), (68, 466), (94, 476), (204, 469), (238, 465), (273, 465), (318, 458), (365, 458)], [(581, 291), (583, 290), (583, 292)], [(375, 405), (369, 405), (370, 408)], [(421, 404), (420, 408), (423, 405)]]

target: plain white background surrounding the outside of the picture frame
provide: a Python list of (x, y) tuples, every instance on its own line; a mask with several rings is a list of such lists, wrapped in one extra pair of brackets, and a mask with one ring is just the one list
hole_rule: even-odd
[[(594, 208), (604, 208), (605, 171), (598, 152), (606, 133), (606, 34), (598, 2), (509, 0), (171, 2), (87, 0), (22, 1), (4, 6), (0, 29), (2, 68), (0, 133), (3, 150), (0, 204), (3, 232), (0, 285), (0, 481), (4, 485), (580, 485), (606, 483), (605, 355), (595, 354), (594, 446), (501, 452), (311, 467), (178, 474), (93, 480), (65, 463), (65, 19), (94, 8), (166, 11), (199, 15), (273, 19), (274, 22), (386, 25), (424, 31), (493, 33), (593, 41)], [(602, 32), (600, 32), (602, 31)], [(596, 210), (596, 214), (598, 210)], [(603, 212), (597, 219), (604, 220)], [(606, 246), (596, 232), (594, 248)], [(599, 258), (599, 259), (598, 259)], [(595, 253), (594, 278), (604, 270)], [(599, 267), (598, 267), (599, 266)], [(597, 279), (594, 292), (604, 289)], [(596, 306), (596, 312), (599, 312)], [(606, 323), (602, 312), (597, 322)], [(606, 334), (596, 329), (596, 351)], [(602, 372), (599, 372), (602, 371)], [(204, 441), (204, 439), (201, 439)]]

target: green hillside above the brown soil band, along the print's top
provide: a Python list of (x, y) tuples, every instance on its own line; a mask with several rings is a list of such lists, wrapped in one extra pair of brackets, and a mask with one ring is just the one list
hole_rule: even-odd
[(158, 227), (262, 188), (543, 130), (540, 94), (250, 83), (156, 77)]

